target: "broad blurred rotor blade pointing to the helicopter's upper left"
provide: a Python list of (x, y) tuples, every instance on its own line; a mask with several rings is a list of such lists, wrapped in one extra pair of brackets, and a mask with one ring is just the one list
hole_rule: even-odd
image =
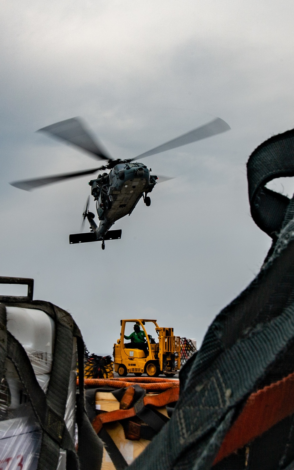
[(112, 160), (105, 150), (94, 141), (80, 118), (71, 118), (56, 122), (47, 127), (42, 127), (37, 132), (40, 131), (52, 134), (63, 141), (71, 142), (77, 147), (87, 150), (92, 154), (92, 157), (94, 156), (98, 160)]

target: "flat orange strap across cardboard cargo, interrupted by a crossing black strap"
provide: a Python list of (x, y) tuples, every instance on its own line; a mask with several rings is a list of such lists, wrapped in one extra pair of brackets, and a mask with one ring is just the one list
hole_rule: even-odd
[[(168, 403), (177, 401), (179, 398), (180, 388), (173, 388), (167, 390), (166, 392), (159, 393), (159, 395), (148, 396), (146, 395), (143, 398), (144, 405), (153, 405), (155, 407), (164, 407)], [(104, 423), (112, 423), (113, 421), (119, 421), (121, 419), (132, 418), (135, 416), (135, 408), (132, 407), (128, 410), (119, 409), (114, 411), (109, 411), (108, 413), (101, 413), (97, 415), (92, 421), (92, 426), (95, 429), (95, 432), (101, 430)]]

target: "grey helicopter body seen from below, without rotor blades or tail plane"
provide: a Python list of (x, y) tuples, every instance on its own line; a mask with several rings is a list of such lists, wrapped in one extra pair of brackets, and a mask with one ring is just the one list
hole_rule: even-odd
[[(143, 196), (151, 192), (157, 176), (151, 175), (142, 163), (121, 163), (115, 165), (110, 173), (98, 175), (91, 180), (91, 194), (96, 201), (96, 211), (100, 220), (99, 227), (91, 212), (87, 216), (97, 240), (104, 235), (118, 219), (131, 214)], [(145, 195), (145, 197), (144, 197)]]

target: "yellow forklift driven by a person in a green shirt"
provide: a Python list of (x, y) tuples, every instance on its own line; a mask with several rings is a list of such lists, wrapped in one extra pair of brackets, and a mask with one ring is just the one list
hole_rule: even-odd
[[(147, 322), (154, 323), (158, 342), (147, 334), (144, 326)], [(137, 349), (136, 343), (125, 346), (127, 323), (137, 324), (143, 329), (146, 338), (144, 350)], [(156, 320), (146, 319), (121, 320), (120, 325), (120, 338), (113, 346), (114, 370), (119, 376), (125, 377), (128, 373), (133, 373), (138, 377), (142, 374), (149, 377), (158, 377), (159, 374), (172, 377), (180, 370), (181, 342), (179, 336), (174, 336), (173, 328), (159, 328)]]

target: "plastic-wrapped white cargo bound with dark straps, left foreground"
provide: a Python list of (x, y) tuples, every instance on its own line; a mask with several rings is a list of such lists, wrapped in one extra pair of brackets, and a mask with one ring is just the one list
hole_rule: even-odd
[(0, 296), (0, 468), (99, 469), (103, 449), (84, 410), (79, 328), (56, 305), (32, 300), (32, 279), (0, 283), (28, 285), (25, 297)]

